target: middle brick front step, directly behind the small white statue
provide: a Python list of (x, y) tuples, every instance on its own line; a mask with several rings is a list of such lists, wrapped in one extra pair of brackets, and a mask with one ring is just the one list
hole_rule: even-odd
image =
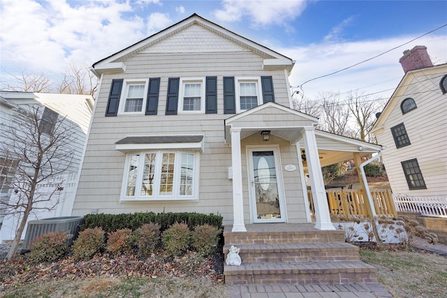
[[(223, 246), (228, 254), (230, 245)], [(358, 247), (347, 243), (240, 244), (242, 262), (358, 261)]]

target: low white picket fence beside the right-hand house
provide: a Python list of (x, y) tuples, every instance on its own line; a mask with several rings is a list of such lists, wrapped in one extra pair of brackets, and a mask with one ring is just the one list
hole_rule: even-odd
[(397, 211), (418, 212), (423, 216), (447, 218), (447, 198), (445, 197), (413, 197), (393, 194), (393, 200)]

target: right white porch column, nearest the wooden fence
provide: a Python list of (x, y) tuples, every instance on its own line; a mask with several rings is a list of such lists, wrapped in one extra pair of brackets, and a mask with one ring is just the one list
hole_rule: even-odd
[(314, 199), (316, 225), (318, 230), (335, 230), (330, 221), (328, 199), (324, 188), (323, 173), (321, 172), (318, 148), (316, 147), (315, 128), (305, 128), (305, 151), (309, 179)]

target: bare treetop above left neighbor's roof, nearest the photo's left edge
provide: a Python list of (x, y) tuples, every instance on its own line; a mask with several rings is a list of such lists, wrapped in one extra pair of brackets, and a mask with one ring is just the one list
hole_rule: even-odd
[(29, 73), (27, 68), (24, 68), (20, 75), (12, 73), (8, 73), (8, 75), (13, 77), (15, 82), (4, 83), (2, 89), (24, 92), (50, 92), (52, 90), (52, 82), (45, 73), (36, 75)]

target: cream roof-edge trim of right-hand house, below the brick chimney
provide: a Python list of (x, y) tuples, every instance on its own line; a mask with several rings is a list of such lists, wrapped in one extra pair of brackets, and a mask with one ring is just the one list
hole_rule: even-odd
[(400, 102), (400, 100), (403, 99), (402, 96), (405, 95), (405, 93), (404, 93), (405, 87), (408, 86), (408, 84), (406, 84), (406, 83), (409, 81), (410, 77), (413, 77), (413, 75), (415, 75), (416, 73), (424, 73), (424, 72), (427, 72), (430, 70), (437, 70), (439, 68), (447, 69), (447, 64), (439, 64), (439, 65), (428, 66), (425, 68), (418, 68), (418, 69), (407, 71), (405, 73), (404, 77), (402, 77), (402, 80), (400, 80), (399, 84), (397, 84), (395, 91), (391, 95), (391, 97), (388, 100), (388, 102), (386, 103), (385, 107), (383, 107), (383, 110), (382, 110), (379, 118), (377, 119), (376, 123), (374, 124), (374, 126), (372, 128), (372, 133), (374, 133), (374, 131), (377, 131), (379, 128), (381, 128), (381, 126), (383, 125), (383, 122), (386, 121), (386, 119), (388, 118), (390, 113), (393, 111), (393, 108), (395, 107), (395, 105), (397, 105)]

